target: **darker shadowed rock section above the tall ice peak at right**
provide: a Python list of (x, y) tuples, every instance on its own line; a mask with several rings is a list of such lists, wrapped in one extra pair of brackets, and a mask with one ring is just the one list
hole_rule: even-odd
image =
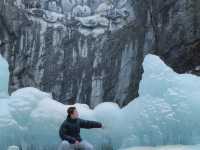
[(200, 2), (161, 0), (147, 3), (154, 34), (153, 53), (178, 73), (199, 74)]

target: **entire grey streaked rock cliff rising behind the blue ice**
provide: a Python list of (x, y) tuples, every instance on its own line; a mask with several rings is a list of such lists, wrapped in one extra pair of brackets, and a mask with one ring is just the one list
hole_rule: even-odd
[(10, 91), (34, 86), (62, 103), (124, 106), (138, 96), (147, 53), (199, 73), (198, 0), (4, 0), (0, 8)]

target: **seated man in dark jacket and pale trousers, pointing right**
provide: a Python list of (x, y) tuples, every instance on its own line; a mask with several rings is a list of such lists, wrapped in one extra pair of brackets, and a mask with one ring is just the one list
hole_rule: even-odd
[(79, 118), (76, 107), (69, 107), (67, 119), (62, 123), (59, 134), (63, 140), (59, 150), (93, 150), (93, 146), (81, 139), (80, 128), (102, 128), (102, 124), (96, 121), (87, 121)]

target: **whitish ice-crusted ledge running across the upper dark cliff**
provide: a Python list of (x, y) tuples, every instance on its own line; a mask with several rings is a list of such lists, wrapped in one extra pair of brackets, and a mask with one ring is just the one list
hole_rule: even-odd
[[(57, 25), (62, 28), (75, 29), (85, 36), (97, 37), (106, 31), (114, 32), (123, 28), (127, 22), (115, 19), (113, 23), (111, 18), (101, 14), (94, 14), (85, 17), (65, 16), (62, 13), (51, 12), (44, 9), (28, 9), (24, 10), (32, 21), (41, 20), (42, 24)], [(118, 21), (116, 21), (118, 20)], [(111, 23), (112, 22), (112, 23)]]

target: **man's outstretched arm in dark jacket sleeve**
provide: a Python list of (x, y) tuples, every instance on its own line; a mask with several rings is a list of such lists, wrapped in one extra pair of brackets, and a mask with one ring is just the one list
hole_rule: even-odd
[(97, 121), (89, 121), (89, 120), (83, 120), (83, 119), (79, 119), (79, 121), (80, 121), (81, 128), (86, 128), (86, 129), (102, 128), (102, 124)]

